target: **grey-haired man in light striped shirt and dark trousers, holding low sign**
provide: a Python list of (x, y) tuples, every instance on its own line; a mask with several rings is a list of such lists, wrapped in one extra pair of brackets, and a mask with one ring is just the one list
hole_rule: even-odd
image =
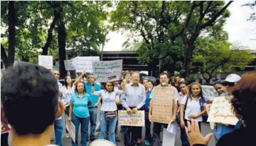
[[(129, 114), (136, 113), (138, 110), (144, 110), (145, 104), (145, 87), (139, 83), (139, 74), (134, 72), (131, 78), (132, 83), (125, 85), (126, 93), (120, 98), (122, 106), (125, 107)], [(125, 145), (138, 145), (137, 140), (141, 135), (139, 134), (141, 129), (142, 127), (138, 126), (125, 126)]]

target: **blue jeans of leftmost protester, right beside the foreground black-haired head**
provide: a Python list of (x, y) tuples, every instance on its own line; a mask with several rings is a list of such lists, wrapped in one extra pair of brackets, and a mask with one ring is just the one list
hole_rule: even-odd
[(60, 120), (56, 120), (54, 122), (56, 145), (62, 146), (61, 137), (62, 137), (62, 132), (63, 132), (63, 126), (64, 126), (63, 118), (61, 118)]

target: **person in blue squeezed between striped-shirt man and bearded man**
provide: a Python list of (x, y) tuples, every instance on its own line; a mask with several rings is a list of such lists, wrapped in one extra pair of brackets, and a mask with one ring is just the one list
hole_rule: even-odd
[[(144, 105), (144, 109), (145, 109), (145, 145), (150, 145), (150, 141), (151, 141), (151, 123), (149, 121), (149, 102), (150, 102), (150, 94), (151, 91), (149, 88), (149, 80), (147, 79), (142, 79), (141, 80), (142, 85), (145, 86), (145, 105)], [(141, 133), (140, 133), (141, 134)]]

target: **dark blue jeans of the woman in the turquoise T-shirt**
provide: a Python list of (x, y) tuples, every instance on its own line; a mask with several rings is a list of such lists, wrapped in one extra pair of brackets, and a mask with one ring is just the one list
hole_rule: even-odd
[(79, 133), (79, 125), (80, 124), (81, 124), (81, 145), (87, 146), (89, 119), (90, 119), (90, 117), (79, 118), (74, 114), (74, 112), (72, 112), (71, 121), (76, 127), (76, 142), (73, 142), (73, 140), (72, 140), (73, 146), (78, 146), (78, 133)]

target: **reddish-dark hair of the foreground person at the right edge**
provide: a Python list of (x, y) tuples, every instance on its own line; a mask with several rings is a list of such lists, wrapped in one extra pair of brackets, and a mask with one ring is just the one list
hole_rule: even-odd
[(233, 111), (242, 117), (246, 126), (256, 123), (256, 74), (242, 77), (234, 86), (231, 104)]

